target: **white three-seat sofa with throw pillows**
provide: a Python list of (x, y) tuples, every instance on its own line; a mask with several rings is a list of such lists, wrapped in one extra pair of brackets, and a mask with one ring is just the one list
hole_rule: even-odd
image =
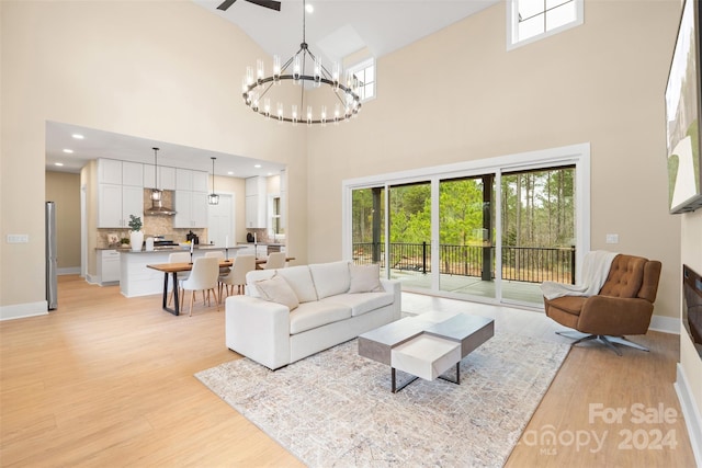
[(400, 284), (377, 271), (341, 261), (249, 272), (246, 295), (226, 300), (227, 347), (276, 369), (399, 319)]

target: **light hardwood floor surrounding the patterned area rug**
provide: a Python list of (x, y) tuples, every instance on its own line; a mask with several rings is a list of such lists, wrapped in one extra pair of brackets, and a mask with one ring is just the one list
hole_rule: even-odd
[[(471, 311), (495, 317), (497, 332), (566, 342), (541, 313), (418, 295), (403, 300), (408, 312)], [(677, 336), (649, 332), (636, 341), (652, 352), (619, 357), (598, 345), (574, 347), (507, 466), (694, 466), (672, 387)], [(160, 296), (126, 299), (117, 287), (60, 276), (58, 310), (0, 322), (0, 465), (302, 466), (193, 377), (238, 357), (224, 345), (224, 312), (214, 307), (201, 303), (193, 317), (173, 317)], [(590, 422), (590, 404), (626, 414), (622, 423)], [(632, 404), (664, 408), (668, 421), (632, 422)], [(548, 430), (556, 446), (533, 442)], [(626, 431), (639, 447), (646, 437), (646, 447), (620, 447)], [(653, 447), (656, 431), (672, 433), (677, 446)], [(604, 437), (602, 447), (592, 440), (566, 445), (570, 436), (584, 442), (586, 432)]]

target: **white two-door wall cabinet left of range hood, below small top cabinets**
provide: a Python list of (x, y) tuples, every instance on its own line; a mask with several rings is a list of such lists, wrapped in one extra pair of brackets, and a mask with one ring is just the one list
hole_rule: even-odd
[(144, 219), (144, 189), (132, 185), (99, 184), (98, 227), (128, 228), (129, 215)]

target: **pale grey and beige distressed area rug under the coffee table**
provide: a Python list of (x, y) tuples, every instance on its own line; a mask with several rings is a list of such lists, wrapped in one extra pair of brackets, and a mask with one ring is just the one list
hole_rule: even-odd
[(398, 393), (356, 340), (275, 372), (241, 358), (195, 377), (309, 467), (500, 467), (569, 349), (496, 334), (461, 362), (461, 385)]

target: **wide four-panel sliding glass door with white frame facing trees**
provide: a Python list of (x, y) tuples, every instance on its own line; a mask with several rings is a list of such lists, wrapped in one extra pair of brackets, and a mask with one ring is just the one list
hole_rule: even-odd
[(375, 186), (350, 183), (344, 249), (355, 263), (381, 264), (403, 290), (541, 307), (539, 285), (576, 283), (576, 264), (589, 250), (589, 147), (577, 149), (477, 171), (399, 174)]

